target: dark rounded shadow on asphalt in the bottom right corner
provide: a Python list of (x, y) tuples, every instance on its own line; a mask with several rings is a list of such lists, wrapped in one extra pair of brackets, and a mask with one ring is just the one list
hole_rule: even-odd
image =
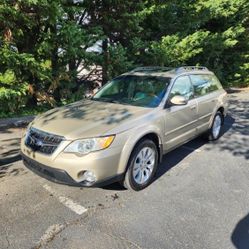
[(237, 249), (249, 248), (249, 214), (238, 222), (231, 235), (231, 241)]

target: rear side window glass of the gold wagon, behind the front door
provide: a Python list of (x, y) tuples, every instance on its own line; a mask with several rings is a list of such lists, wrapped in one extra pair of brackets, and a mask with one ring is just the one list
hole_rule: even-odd
[(222, 88), (219, 80), (214, 75), (190, 75), (197, 97), (204, 96)]

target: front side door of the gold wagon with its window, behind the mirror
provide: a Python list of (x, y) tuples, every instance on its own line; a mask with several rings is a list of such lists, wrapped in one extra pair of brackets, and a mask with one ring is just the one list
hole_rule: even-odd
[(197, 101), (189, 76), (176, 78), (169, 98), (180, 95), (188, 100), (186, 105), (170, 105), (165, 112), (165, 149), (170, 150), (196, 134)]

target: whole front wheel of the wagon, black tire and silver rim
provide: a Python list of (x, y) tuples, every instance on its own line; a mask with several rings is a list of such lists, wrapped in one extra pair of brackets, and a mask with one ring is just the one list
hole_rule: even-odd
[(152, 181), (158, 166), (158, 149), (149, 139), (141, 140), (133, 149), (122, 185), (139, 191)]

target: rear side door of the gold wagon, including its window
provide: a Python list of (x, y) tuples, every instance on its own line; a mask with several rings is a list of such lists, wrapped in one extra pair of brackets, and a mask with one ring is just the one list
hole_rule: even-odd
[(190, 79), (198, 102), (197, 132), (202, 133), (209, 128), (212, 115), (217, 106), (219, 84), (217, 84), (216, 77), (212, 74), (192, 74)]

